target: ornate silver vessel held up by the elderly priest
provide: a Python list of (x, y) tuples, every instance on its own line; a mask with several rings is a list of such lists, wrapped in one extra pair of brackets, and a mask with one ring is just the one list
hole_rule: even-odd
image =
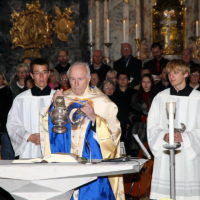
[(67, 131), (65, 124), (68, 121), (67, 108), (63, 96), (58, 96), (54, 102), (54, 109), (50, 113), (54, 127), (52, 129), (55, 133), (64, 133)]

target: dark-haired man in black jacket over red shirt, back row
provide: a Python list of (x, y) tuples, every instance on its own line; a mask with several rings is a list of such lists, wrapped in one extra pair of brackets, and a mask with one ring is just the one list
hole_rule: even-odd
[(159, 80), (162, 69), (166, 66), (168, 60), (162, 56), (163, 48), (158, 42), (155, 42), (151, 45), (151, 52), (153, 58), (144, 63), (144, 68), (147, 68), (151, 71), (151, 74), (154, 76), (155, 80)]

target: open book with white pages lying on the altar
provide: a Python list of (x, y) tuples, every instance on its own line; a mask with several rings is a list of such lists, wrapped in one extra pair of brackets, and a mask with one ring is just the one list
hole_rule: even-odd
[(82, 158), (70, 153), (55, 153), (44, 156), (43, 158), (19, 159), (12, 163), (76, 163), (81, 162)]

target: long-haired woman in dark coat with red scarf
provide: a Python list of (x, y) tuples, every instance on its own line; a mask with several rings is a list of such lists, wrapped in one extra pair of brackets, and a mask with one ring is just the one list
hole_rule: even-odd
[[(143, 144), (147, 143), (147, 117), (154, 98), (154, 80), (150, 74), (144, 74), (140, 83), (139, 90), (133, 94), (130, 103), (129, 121), (131, 130), (138, 134)], [(132, 138), (131, 131), (127, 143), (127, 154), (137, 156), (140, 147)]]

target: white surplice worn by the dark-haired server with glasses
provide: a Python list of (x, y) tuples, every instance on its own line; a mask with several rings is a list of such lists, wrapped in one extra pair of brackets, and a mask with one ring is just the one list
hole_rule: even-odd
[(42, 110), (51, 104), (54, 90), (50, 95), (33, 96), (31, 90), (19, 94), (13, 101), (8, 114), (7, 130), (15, 156), (20, 158), (41, 157), (40, 145), (27, 142), (33, 133), (40, 133)]

